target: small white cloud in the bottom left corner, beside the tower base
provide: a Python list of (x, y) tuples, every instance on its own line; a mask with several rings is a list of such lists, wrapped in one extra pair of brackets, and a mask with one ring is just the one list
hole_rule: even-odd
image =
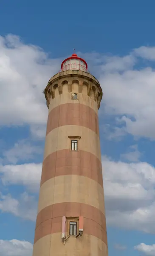
[(20, 240), (0, 240), (1, 256), (31, 256), (33, 244)]

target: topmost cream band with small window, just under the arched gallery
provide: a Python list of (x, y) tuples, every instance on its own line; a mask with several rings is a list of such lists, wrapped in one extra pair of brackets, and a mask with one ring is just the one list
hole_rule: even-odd
[(95, 102), (90, 96), (87, 96), (83, 93), (78, 93), (78, 100), (71, 99), (72, 93), (63, 92), (62, 94), (56, 95), (54, 99), (51, 99), (49, 110), (56, 108), (57, 106), (65, 103), (75, 103), (75, 104), (83, 104), (93, 110), (98, 114), (97, 102)]

